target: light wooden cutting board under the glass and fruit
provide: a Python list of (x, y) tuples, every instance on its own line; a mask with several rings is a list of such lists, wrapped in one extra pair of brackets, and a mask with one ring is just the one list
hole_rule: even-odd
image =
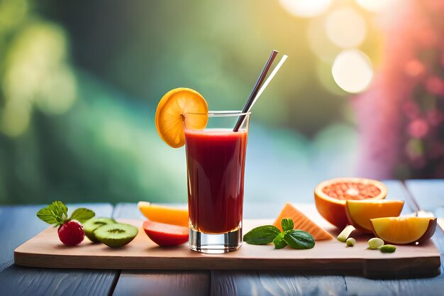
[[(313, 207), (304, 211), (333, 236), (338, 230), (318, 216)], [(16, 248), (16, 265), (39, 268), (150, 269), (150, 270), (292, 270), (318, 275), (359, 275), (366, 278), (424, 278), (440, 274), (440, 253), (432, 241), (421, 246), (397, 246), (395, 253), (368, 250), (372, 236), (360, 235), (353, 248), (335, 239), (316, 241), (310, 250), (274, 250), (273, 245), (243, 243), (238, 251), (220, 255), (196, 253), (188, 244), (161, 248), (140, 228), (142, 220), (121, 220), (139, 227), (138, 236), (122, 248), (109, 248), (85, 238), (79, 246), (60, 243), (57, 229), (49, 227)], [(244, 220), (244, 234), (272, 220)]]

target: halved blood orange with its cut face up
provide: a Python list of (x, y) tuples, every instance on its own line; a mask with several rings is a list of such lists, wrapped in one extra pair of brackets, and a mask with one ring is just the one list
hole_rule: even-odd
[(331, 224), (343, 229), (348, 224), (345, 214), (347, 200), (384, 199), (387, 187), (382, 182), (365, 178), (337, 178), (319, 183), (314, 201), (319, 214)]

